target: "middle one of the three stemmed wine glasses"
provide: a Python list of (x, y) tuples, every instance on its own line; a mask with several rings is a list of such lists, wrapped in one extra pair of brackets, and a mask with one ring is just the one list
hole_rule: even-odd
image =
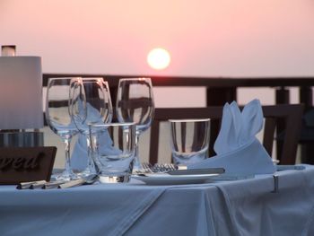
[[(74, 84), (78, 83), (74, 81)], [(95, 164), (92, 159), (92, 147), (89, 134), (89, 125), (110, 123), (112, 119), (112, 104), (108, 82), (102, 78), (81, 78), (83, 86), (75, 86), (70, 104), (70, 113), (74, 125), (79, 132), (85, 135), (87, 144), (87, 167), (80, 173), (81, 176), (96, 174)]]

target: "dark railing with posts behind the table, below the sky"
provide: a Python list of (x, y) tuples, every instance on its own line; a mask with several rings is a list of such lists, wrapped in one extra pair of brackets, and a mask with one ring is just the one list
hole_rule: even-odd
[[(299, 89), (300, 103), (304, 105), (305, 112), (312, 108), (312, 90), (314, 86), (314, 77), (184, 77), (184, 76), (150, 76), (141, 75), (109, 75), (109, 74), (43, 74), (43, 85), (47, 86), (50, 77), (104, 77), (110, 86), (112, 101), (115, 101), (118, 87), (118, 80), (126, 77), (150, 77), (153, 86), (186, 86), (186, 87), (205, 87), (206, 88), (206, 105), (222, 106), (227, 101), (237, 101), (237, 89), (243, 87), (269, 87), (275, 89), (275, 104), (289, 104), (290, 92), (289, 87)], [(314, 123), (314, 121), (313, 121)], [(212, 127), (218, 128), (218, 127)], [(284, 125), (278, 127), (277, 132), (281, 132)], [(302, 128), (302, 131), (304, 126)], [(301, 134), (301, 156), (302, 162), (314, 163), (314, 127), (313, 135), (309, 129), (306, 140)], [(303, 132), (302, 132), (303, 133)], [(313, 156), (313, 157), (311, 157)]]

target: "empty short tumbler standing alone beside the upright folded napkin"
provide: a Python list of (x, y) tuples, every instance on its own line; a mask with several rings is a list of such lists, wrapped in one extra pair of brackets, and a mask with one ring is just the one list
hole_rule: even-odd
[(172, 160), (188, 165), (207, 157), (210, 119), (170, 119)]

